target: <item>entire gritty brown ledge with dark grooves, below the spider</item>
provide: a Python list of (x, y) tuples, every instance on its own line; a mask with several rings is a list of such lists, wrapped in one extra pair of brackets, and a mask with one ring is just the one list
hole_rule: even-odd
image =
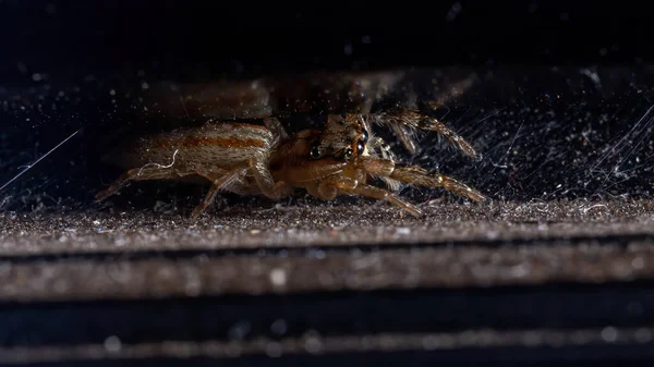
[[(354, 204), (243, 204), (198, 220), (153, 211), (4, 212), (0, 318), (13, 327), (3, 337), (13, 341), (5, 345), (13, 346), (3, 347), (0, 362), (229, 359), (316, 351), (598, 344), (650, 348), (654, 320), (647, 310), (654, 305), (642, 293), (654, 279), (654, 206), (649, 200), (432, 203), (424, 206), (424, 218), (376, 203)], [(335, 301), (342, 292), (373, 294), (373, 298)], [(311, 294), (323, 298), (313, 299)], [(281, 298), (266, 298), (271, 296)], [(480, 303), (479, 297), (485, 301)], [(401, 308), (397, 320), (386, 323), (379, 315), (361, 320), (361, 307), (375, 309), (391, 298), (404, 299), (397, 306)], [(593, 299), (604, 306), (595, 310), (571, 306)], [(162, 304), (150, 315), (147, 309), (154, 308), (148, 302)], [(192, 304), (173, 311), (175, 302)], [(201, 338), (199, 326), (189, 325), (192, 315), (206, 311), (203, 307), (229, 308), (234, 302), (251, 306), (216, 316), (227, 326), (218, 323)], [(255, 306), (262, 302), (269, 304), (269, 310)], [(334, 305), (329, 306), (335, 302), (353, 308), (335, 316)], [(553, 310), (558, 302), (568, 303), (572, 310)], [(610, 306), (610, 302), (625, 304)], [(518, 316), (505, 315), (508, 305), (516, 307), (511, 313)], [(441, 321), (431, 320), (416, 307), (439, 308), (436, 317)], [(647, 317), (635, 317), (633, 307)], [(270, 313), (266, 317), (271, 323), (261, 319), (262, 313)], [(423, 316), (413, 319), (417, 316), (411, 313)], [(444, 321), (468, 317), (465, 313), (469, 321), (452, 321), (449, 327)], [(97, 314), (106, 323), (97, 320)], [(53, 320), (73, 316), (81, 323), (66, 326), (72, 337), (39, 334), (34, 329), (26, 334), (28, 325), (39, 320), (57, 323)], [(141, 321), (145, 323), (135, 328), (138, 331), (120, 329), (121, 322), (133, 322), (129, 320), (134, 317), (149, 321)], [(363, 329), (334, 331), (330, 317), (347, 325), (363, 322)], [(513, 321), (502, 323), (504, 317)], [(239, 318), (246, 320), (249, 338), (234, 338)], [(160, 319), (172, 326), (162, 327), (156, 321)], [(90, 323), (83, 326), (81, 320)], [(275, 320), (284, 322), (278, 325), (282, 330), (277, 334)], [(292, 325), (296, 330), (286, 332)], [(254, 330), (257, 326), (270, 329)], [(323, 335), (311, 337), (316, 329)], [(275, 338), (268, 335), (270, 330)], [(149, 337), (141, 338), (138, 332)]]

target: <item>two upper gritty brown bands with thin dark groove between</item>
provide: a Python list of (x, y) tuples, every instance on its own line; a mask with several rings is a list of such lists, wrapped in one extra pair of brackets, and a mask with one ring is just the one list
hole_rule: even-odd
[(649, 200), (4, 213), (0, 299), (625, 281), (654, 276)]

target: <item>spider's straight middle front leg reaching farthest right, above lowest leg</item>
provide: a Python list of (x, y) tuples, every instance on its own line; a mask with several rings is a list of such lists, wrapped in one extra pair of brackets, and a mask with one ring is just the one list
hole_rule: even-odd
[(396, 164), (392, 160), (377, 157), (358, 157), (355, 167), (374, 176), (389, 178), (423, 187), (443, 187), (456, 194), (468, 196), (479, 203), (491, 200), (484, 194), (460, 181), (443, 174), (429, 174), (425, 169), (420, 167), (400, 166)]

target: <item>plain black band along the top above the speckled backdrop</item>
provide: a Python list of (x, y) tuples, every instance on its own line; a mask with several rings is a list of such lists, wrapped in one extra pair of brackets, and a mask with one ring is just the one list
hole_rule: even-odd
[[(152, 77), (649, 60), (638, 2), (2, 1), (3, 83), (28, 71)], [(347, 45), (351, 52), (344, 52)], [(604, 50), (604, 51), (603, 51)], [(70, 74), (65, 74), (70, 73)]]

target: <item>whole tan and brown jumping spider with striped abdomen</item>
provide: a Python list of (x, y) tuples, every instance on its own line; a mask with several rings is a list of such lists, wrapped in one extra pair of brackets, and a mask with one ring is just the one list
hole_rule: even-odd
[[(264, 121), (266, 126), (209, 122), (199, 127), (142, 137), (122, 157), (122, 163), (131, 169), (96, 198), (102, 200), (111, 196), (129, 181), (199, 176), (208, 180), (211, 187), (193, 210), (192, 218), (209, 206), (220, 191), (263, 194), (271, 199), (286, 197), (295, 187), (305, 188), (324, 200), (339, 195), (361, 195), (386, 200), (413, 216), (420, 216), (421, 210), (392, 193), (399, 183), (444, 187), (475, 201), (486, 201), (483, 194), (455, 179), (396, 163), (384, 142), (368, 136), (366, 129), (372, 121), (423, 127), (422, 120), (411, 111), (379, 113), (367, 119), (354, 113), (330, 114), (322, 129), (303, 130), (289, 136), (277, 119), (268, 118)], [(476, 156), (451, 130), (441, 123), (434, 126), (467, 155)], [(167, 161), (170, 163), (153, 163)], [(382, 179), (391, 191), (368, 184), (372, 178)]]

